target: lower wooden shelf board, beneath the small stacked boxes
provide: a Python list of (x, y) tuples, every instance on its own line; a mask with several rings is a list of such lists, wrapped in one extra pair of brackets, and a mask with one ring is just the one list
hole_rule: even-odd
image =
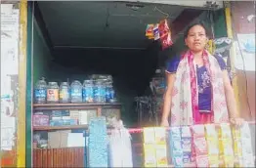
[(34, 131), (55, 131), (55, 130), (72, 130), (72, 129), (88, 129), (88, 125), (33, 126)]

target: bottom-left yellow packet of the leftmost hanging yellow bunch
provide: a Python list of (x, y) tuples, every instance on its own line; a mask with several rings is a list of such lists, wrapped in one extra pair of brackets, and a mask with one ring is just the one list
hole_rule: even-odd
[(144, 145), (144, 165), (145, 167), (156, 167), (154, 145)]

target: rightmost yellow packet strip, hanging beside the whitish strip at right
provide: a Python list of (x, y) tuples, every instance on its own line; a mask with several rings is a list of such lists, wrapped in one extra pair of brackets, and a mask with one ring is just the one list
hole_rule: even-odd
[(219, 149), (220, 149), (220, 166), (234, 167), (234, 150), (231, 134), (231, 126), (223, 123), (219, 128)]

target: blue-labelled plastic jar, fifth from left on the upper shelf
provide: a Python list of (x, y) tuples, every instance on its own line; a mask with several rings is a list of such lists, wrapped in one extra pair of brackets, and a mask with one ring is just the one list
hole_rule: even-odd
[(94, 102), (94, 84), (92, 80), (84, 80), (83, 83), (83, 102)]

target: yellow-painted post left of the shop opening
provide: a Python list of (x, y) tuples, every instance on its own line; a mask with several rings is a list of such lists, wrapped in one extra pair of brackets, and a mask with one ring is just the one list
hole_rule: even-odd
[(20, 1), (19, 112), (17, 126), (17, 167), (25, 167), (25, 93), (27, 1)]

